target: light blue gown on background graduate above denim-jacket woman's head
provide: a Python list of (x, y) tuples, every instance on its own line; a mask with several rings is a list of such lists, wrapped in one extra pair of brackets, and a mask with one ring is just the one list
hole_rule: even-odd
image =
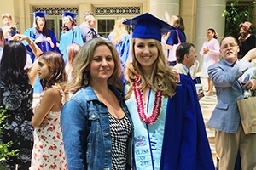
[(80, 46), (84, 45), (84, 39), (82, 31), (79, 29), (79, 27), (76, 27), (73, 30), (68, 30), (65, 33), (61, 32), (61, 40), (60, 40), (60, 51), (63, 55), (63, 59), (65, 63), (67, 63), (67, 46), (72, 43), (77, 43)]

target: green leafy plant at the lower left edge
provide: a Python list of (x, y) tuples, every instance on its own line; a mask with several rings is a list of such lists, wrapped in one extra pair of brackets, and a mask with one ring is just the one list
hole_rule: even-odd
[[(5, 124), (3, 124), (4, 119), (8, 117), (4, 115), (5, 112), (6, 112), (6, 109), (3, 109), (3, 107), (0, 106), (0, 133), (2, 134), (3, 134), (2, 129), (5, 126)], [(11, 150), (11, 151), (8, 150), (11, 144), (13, 144), (12, 141), (9, 141), (9, 143), (7, 144), (3, 144), (3, 142), (0, 139), (0, 161), (4, 161), (7, 156), (16, 156), (18, 154), (19, 150)], [(6, 167), (0, 165), (0, 170), (4, 170), (4, 169), (6, 169)]]

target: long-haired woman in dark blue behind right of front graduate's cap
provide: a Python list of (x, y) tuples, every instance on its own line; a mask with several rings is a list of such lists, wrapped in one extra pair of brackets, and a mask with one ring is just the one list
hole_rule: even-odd
[[(170, 22), (170, 25), (175, 27), (176, 30), (175, 31), (171, 31), (169, 33), (169, 36), (166, 40), (166, 45), (165, 45), (165, 48), (169, 50), (168, 52), (168, 65), (169, 66), (174, 66), (176, 65), (176, 56), (170, 56), (170, 53), (171, 53), (171, 50), (172, 50), (172, 47), (174, 44), (178, 44), (178, 37), (179, 37), (179, 40), (180, 42), (186, 42), (186, 35), (185, 35), (185, 26), (184, 26), (184, 23), (183, 23), (183, 18), (179, 15), (172, 15), (172, 18), (171, 18), (171, 22)], [(178, 37), (177, 37), (178, 36)]]

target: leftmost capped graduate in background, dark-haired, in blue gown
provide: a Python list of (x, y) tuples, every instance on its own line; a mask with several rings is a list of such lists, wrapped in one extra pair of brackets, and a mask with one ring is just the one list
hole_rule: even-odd
[[(47, 28), (47, 23), (45, 20), (45, 15), (49, 14), (37, 11), (32, 13), (32, 15), (34, 16), (33, 26), (32, 28), (27, 29), (24, 32), (24, 35), (35, 42), (43, 53), (48, 51), (56, 51), (57, 46), (55, 32)], [(26, 42), (24, 42), (24, 45), (26, 46), (27, 53), (30, 54), (32, 58), (32, 62), (34, 62), (37, 58), (32, 53), (32, 49)], [(37, 78), (33, 88), (34, 93), (41, 93), (43, 91), (39, 77)]]

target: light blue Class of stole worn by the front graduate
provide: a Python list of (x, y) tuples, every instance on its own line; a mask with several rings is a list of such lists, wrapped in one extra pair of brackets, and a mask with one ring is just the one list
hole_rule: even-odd
[[(129, 85), (125, 86), (125, 92), (129, 89)], [(166, 107), (168, 98), (163, 98), (160, 105), (160, 116), (154, 124), (143, 122), (138, 114), (135, 99), (135, 94), (132, 92), (131, 98), (125, 100), (131, 120), (134, 125), (134, 160), (136, 169), (160, 169), (160, 159), (165, 132), (166, 122)], [(148, 104), (145, 111), (152, 113), (154, 108), (154, 91), (149, 90)]]

